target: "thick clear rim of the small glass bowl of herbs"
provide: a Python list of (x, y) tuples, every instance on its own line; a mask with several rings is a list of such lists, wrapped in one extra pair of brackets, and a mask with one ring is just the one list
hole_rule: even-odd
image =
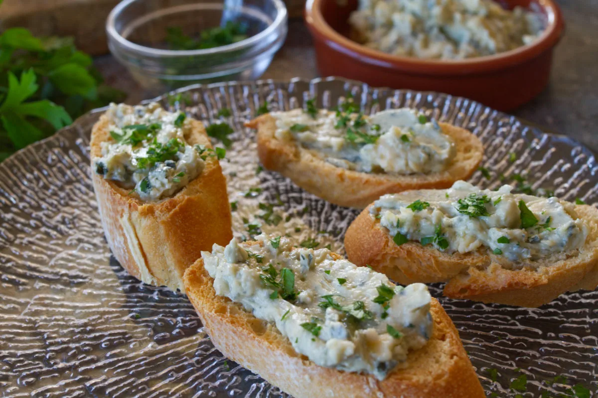
[[(118, 45), (122, 48), (126, 48), (128, 50), (135, 51), (138, 54), (148, 57), (188, 57), (188, 56), (206, 56), (212, 54), (222, 54), (228, 51), (235, 51), (241, 50), (243, 48), (250, 48), (253, 45), (257, 44), (258, 42), (265, 39), (267, 36), (270, 36), (271, 33), (279, 29), (279, 27), (286, 21), (286, 7), (282, 0), (267, 0), (274, 4), (276, 8), (276, 17), (274, 21), (266, 27), (266, 29), (262, 30), (257, 35), (251, 36), (247, 39), (243, 39), (239, 42), (233, 44), (222, 45), (220, 47), (214, 48), (205, 48), (202, 50), (163, 50), (161, 48), (153, 48), (147, 47), (145, 45), (135, 44), (132, 41), (127, 40), (120, 33), (117, 32), (115, 23), (117, 18), (123, 12), (123, 10), (128, 7), (133, 2), (140, 1), (140, 0), (124, 0), (121, 1), (110, 11), (108, 15), (108, 19), (106, 19), (106, 32), (108, 33), (108, 37), (115, 40)], [(223, 7), (224, 9), (224, 7)]]

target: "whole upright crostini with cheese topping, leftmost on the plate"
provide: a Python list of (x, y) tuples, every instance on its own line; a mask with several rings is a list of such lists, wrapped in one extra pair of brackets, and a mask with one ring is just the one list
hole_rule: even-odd
[(184, 292), (202, 250), (232, 237), (226, 181), (203, 124), (157, 103), (112, 104), (91, 133), (91, 174), (106, 240), (120, 264)]

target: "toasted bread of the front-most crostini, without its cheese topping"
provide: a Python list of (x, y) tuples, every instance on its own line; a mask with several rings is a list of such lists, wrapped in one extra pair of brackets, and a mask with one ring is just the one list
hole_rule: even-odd
[(396, 369), (379, 381), (371, 375), (324, 368), (298, 354), (276, 326), (255, 318), (242, 305), (216, 296), (203, 259), (185, 272), (185, 286), (215, 347), (295, 398), (485, 396), (459, 333), (434, 298), (432, 337), (409, 354), (405, 369)]

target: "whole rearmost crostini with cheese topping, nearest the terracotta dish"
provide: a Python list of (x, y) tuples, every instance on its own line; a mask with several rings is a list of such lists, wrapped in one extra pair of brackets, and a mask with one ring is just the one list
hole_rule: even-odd
[(469, 131), (429, 120), (413, 109), (372, 116), (355, 106), (271, 112), (246, 125), (257, 128), (263, 166), (318, 197), (363, 209), (384, 194), (448, 188), (475, 172), (483, 157)]

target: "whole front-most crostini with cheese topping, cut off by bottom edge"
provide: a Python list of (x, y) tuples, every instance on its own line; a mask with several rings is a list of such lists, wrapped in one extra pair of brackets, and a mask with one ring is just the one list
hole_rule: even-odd
[(203, 252), (185, 286), (215, 347), (295, 398), (484, 397), (424, 284), (262, 234)]

